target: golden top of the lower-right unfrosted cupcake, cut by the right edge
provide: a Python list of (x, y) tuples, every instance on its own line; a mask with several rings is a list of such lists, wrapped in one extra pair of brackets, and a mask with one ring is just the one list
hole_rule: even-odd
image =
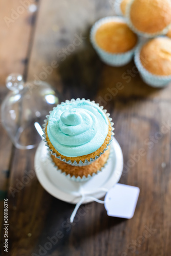
[(171, 39), (157, 37), (148, 42), (140, 51), (143, 67), (155, 75), (171, 75)]

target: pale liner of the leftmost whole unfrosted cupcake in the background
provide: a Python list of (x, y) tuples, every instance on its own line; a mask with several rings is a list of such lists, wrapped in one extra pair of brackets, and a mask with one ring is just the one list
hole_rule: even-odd
[(106, 64), (113, 66), (113, 67), (121, 67), (131, 61), (131, 59), (133, 58), (135, 49), (138, 45), (138, 42), (137, 42), (137, 45), (132, 50), (127, 51), (125, 53), (112, 54), (110, 52), (106, 52), (106, 51), (102, 50), (96, 44), (96, 40), (95, 40), (96, 31), (102, 24), (105, 24), (107, 22), (113, 22), (113, 21), (125, 23), (125, 19), (123, 17), (110, 16), (110, 17), (102, 18), (102, 19), (98, 20), (98, 22), (96, 22), (93, 25), (91, 32), (90, 32), (90, 40), (92, 42), (94, 49), (97, 51), (99, 57), (101, 58), (101, 60), (103, 62), (105, 62)]

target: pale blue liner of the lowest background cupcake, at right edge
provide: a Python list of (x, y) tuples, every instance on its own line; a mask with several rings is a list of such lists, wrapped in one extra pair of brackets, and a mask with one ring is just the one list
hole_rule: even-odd
[(143, 44), (140, 44), (135, 52), (135, 64), (140, 72), (140, 75), (145, 83), (155, 88), (161, 88), (166, 86), (171, 81), (170, 76), (158, 76), (148, 72), (142, 65), (140, 60), (140, 51)]

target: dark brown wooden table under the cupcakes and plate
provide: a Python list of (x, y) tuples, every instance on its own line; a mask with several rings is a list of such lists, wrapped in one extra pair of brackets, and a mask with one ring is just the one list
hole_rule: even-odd
[[(8, 74), (19, 72), (32, 80), (35, 75), (43, 76), (42, 67), (58, 61), (59, 67), (53, 68), (46, 81), (61, 93), (62, 100), (84, 97), (105, 105), (114, 119), (115, 137), (124, 156), (120, 183), (138, 186), (140, 196), (131, 220), (108, 217), (104, 206), (93, 202), (82, 208), (83, 216), (72, 225), (68, 219), (74, 205), (50, 196), (36, 177), (13, 197), (9, 189), (16, 188), (18, 180), (34, 170), (35, 150), (17, 150), (1, 125), (2, 228), (4, 197), (9, 200), (9, 252), (4, 252), (1, 232), (2, 254), (169, 256), (171, 84), (153, 89), (141, 80), (133, 61), (112, 68), (99, 60), (90, 44), (89, 31), (95, 20), (114, 13), (110, 2), (41, 0), (35, 4), (36, 12), (25, 7), (19, 17), (8, 20), (8, 27), (4, 17), (11, 17), (11, 9), (22, 12), (23, 8), (17, 9), (21, 6), (19, 0), (0, 3), (1, 101), (7, 94)], [(81, 35), (86, 38), (80, 39), (80, 46), (73, 51), (74, 39)], [(67, 47), (69, 51), (61, 57), (59, 51)], [(111, 96), (109, 90), (116, 91), (118, 82), (122, 89)], [(49, 249), (48, 237), (56, 233), (58, 241)], [(47, 252), (42, 249), (45, 246)]]

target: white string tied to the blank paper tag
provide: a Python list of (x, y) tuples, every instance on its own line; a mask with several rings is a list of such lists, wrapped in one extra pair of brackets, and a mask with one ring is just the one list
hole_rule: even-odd
[[(100, 188), (99, 189), (100, 191), (102, 190), (102, 191), (105, 191), (105, 192), (108, 192), (109, 190), (108, 189), (106, 189), (106, 188)], [(97, 203), (100, 203), (100, 204), (104, 204), (105, 203), (105, 201), (103, 201), (103, 200), (99, 200), (99, 199), (97, 199), (97, 198), (95, 198), (95, 197), (91, 197), (91, 196), (85, 196), (85, 194), (83, 193), (83, 191), (82, 191), (82, 189), (80, 189), (80, 193), (81, 193), (81, 199), (80, 199), (80, 201), (75, 205), (75, 208), (74, 208), (74, 210), (73, 210), (73, 212), (72, 212), (72, 215), (71, 215), (71, 217), (70, 217), (70, 222), (71, 223), (73, 223), (73, 221), (74, 221), (74, 218), (75, 218), (75, 215), (76, 215), (76, 213), (77, 213), (77, 210), (78, 210), (78, 208), (79, 208), (79, 206), (83, 203), (83, 201), (85, 200), (87, 200), (87, 199), (91, 199), (91, 200), (93, 200), (93, 201), (95, 201), (95, 202), (97, 202)], [(92, 194), (92, 192), (91, 192), (91, 194)]]

